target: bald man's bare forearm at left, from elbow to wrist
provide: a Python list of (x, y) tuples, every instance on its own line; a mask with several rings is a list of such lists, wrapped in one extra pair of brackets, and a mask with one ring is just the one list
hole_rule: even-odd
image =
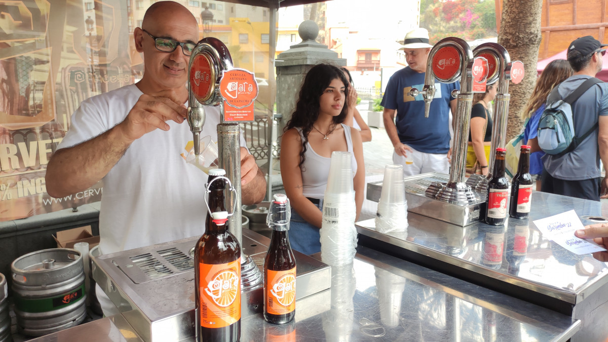
[(52, 197), (64, 197), (88, 189), (100, 181), (125, 154), (125, 141), (114, 127), (95, 138), (58, 150), (46, 168), (46, 189)]

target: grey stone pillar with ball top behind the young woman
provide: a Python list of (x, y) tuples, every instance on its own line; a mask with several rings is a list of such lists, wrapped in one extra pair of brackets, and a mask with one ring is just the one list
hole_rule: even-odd
[(336, 66), (346, 66), (345, 58), (338, 58), (337, 52), (331, 51), (326, 45), (315, 41), (319, 35), (319, 26), (306, 20), (298, 29), (302, 43), (295, 44), (289, 50), (278, 55), (275, 61), (277, 68), (277, 113), (283, 118), (277, 125), (278, 142), (281, 142), (283, 128), (291, 119), (295, 102), (300, 93), (304, 76), (313, 66), (319, 63), (330, 63)]

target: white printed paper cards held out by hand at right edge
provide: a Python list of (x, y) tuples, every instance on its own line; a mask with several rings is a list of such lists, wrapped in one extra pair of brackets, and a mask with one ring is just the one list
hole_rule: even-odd
[(581, 255), (606, 251), (606, 248), (598, 246), (592, 240), (580, 239), (574, 235), (576, 230), (584, 229), (584, 226), (573, 210), (535, 220), (534, 225), (544, 237), (572, 253)]

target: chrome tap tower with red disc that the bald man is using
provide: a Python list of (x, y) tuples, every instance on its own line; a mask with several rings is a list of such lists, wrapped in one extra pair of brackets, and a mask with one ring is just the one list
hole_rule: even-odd
[[(240, 125), (224, 121), (224, 101), (219, 84), (224, 71), (233, 69), (232, 57), (224, 43), (217, 38), (203, 38), (196, 44), (188, 63), (188, 125), (194, 139), (195, 155), (200, 153), (200, 132), (205, 124), (204, 106), (220, 106), (221, 123), (218, 132), (218, 166), (226, 170), (235, 192), (226, 194), (226, 202), (233, 208), (228, 220), (230, 232), (243, 243), (241, 222), (241, 150)], [(241, 248), (241, 253), (244, 248)], [(262, 274), (250, 256), (241, 255), (241, 287), (243, 290), (261, 286)]]

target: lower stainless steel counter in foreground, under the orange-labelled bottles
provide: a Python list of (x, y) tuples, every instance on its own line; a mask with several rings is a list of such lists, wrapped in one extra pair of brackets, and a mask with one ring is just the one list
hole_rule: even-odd
[[(109, 333), (124, 323), (112, 316), (35, 341), (139, 341), (130, 327)], [(258, 314), (241, 324), (241, 341), (566, 341), (580, 326), (362, 246), (352, 264), (332, 267), (330, 290), (297, 300), (292, 323), (269, 324)]]

